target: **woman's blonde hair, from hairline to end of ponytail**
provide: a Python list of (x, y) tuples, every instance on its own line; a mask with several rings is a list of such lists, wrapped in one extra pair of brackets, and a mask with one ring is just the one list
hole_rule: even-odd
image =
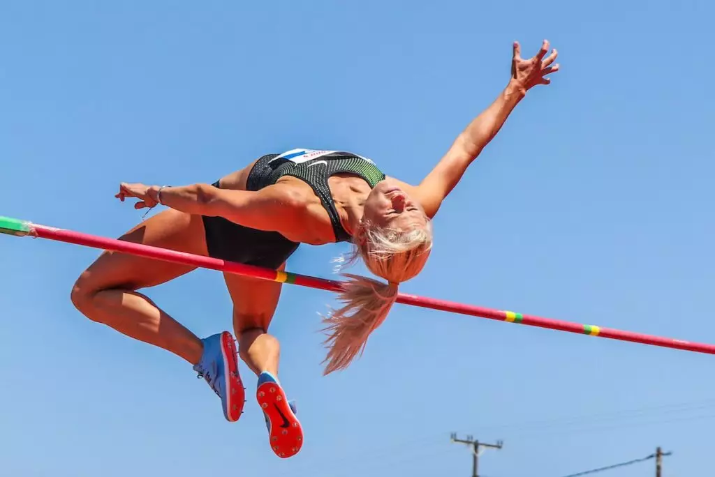
[(370, 333), (380, 326), (398, 297), (398, 284), (422, 270), (432, 248), (432, 223), (410, 231), (381, 229), (362, 224), (354, 248), (344, 265), (363, 258), (365, 266), (388, 283), (343, 273), (345, 284), (338, 293), (342, 308), (323, 317), (328, 348), (324, 375), (347, 368), (362, 355)]

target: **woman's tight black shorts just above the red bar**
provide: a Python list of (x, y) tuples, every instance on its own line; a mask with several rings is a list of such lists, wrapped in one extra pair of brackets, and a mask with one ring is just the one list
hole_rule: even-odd
[[(251, 171), (252, 174), (259, 171)], [(260, 174), (260, 173), (259, 173)], [(220, 189), (216, 181), (212, 184)], [(209, 256), (246, 265), (278, 268), (296, 251), (300, 243), (278, 232), (250, 229), (223, 217), (202, 216)]]

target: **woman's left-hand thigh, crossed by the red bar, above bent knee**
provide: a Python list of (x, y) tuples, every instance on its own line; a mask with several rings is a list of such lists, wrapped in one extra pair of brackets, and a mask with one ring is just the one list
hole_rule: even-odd
[[(120, 240), (207, 255), (201, 216), (167, 209), (150, 217), (120, 237)], [(105, 251), (79, 277), (77, 284), (89, 290), (159, 285), (192, 271), (194, 266)]]

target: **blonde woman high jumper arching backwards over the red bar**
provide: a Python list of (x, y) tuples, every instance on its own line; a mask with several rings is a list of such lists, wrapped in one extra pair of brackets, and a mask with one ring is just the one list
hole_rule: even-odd
[[(122, 240), (283, 270), (300, 243), (350, 242), (352, 259), (385, 282), (346, 274), (344, 306), (325, 317), (325, 373), (350, 365), (395, 303), (398, 284), (422, 270), (432, 247), (431, 219), (468, 166), (533, 86), (558, 70), (556, 49), (544, 40), (531, 59), (513, 44), (511, 78), (497, 99), (455, 139), (417, 186), (388, 177), (370, 159), (347, 151), (294, 149), (268, 154), (212, 185), (125, 184), (117, 198), (139, 199), (137, 209), (166, 210)], [(77, 279), (71, 300), (92, 321), (159, 346), (192, 364), (220, 396), (230, 422), (240, 418), (245, 391), (234, 339), (228, 331), (200, 339), (137, 290), (195, 267), (106, 251)], [(233, 301), (238, 354), (258, 376), (257, 401), (280, 457), (302, 446), (295, 406), (278, 381), (280, 345), (268, 334), (282, 284), (225, 273)]]

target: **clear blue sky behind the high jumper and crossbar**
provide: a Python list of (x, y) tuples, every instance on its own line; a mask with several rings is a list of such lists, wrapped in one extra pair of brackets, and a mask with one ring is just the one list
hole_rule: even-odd
[[(403, 291), (715, 342), (709, 2), (249, 3), (5, 1), (0, 214), (119, 236), (141, 218), (120, 181), (212, 182), (294, 147), (419, 181), (506, 85), (511, 42), (526, 56), (548, 38), (562, 71), (449, 197)], [(302, 246), (288, 268), (330, 276), (344, 250)], [(325, 378), (317, 311), (333, 296), (290, 286), (272, 331), (306, 440), (282, 461), (250, 373), (227, 423), (186, 363), (74, 310), (97, 254), (0, 237), (2, 475), (466, 477), (451, 431), (505, 441), (486, 477), (656, 446), (674, 452), (664, 476), (711, 468), (715, 356), (396, 306)], [(220, 273), (149, 296), (199, 336), (230, 326)]]

